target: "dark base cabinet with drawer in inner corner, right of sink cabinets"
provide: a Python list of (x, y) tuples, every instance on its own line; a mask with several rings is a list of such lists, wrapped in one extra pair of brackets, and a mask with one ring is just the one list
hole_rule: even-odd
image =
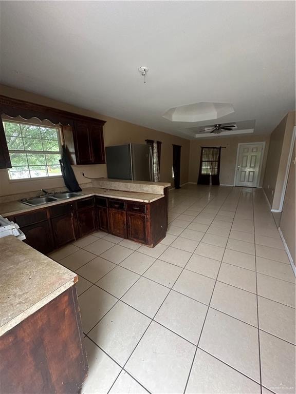
[(95, 231), (96, 229), (96, 211), (94, 198), (77, 201), (77, 238)]

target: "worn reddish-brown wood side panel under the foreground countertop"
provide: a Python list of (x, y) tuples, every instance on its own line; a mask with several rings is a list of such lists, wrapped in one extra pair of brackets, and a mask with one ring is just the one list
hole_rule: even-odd
[(88, 366), (75, 285), (0, 337), (0, 391), (77, 394)]

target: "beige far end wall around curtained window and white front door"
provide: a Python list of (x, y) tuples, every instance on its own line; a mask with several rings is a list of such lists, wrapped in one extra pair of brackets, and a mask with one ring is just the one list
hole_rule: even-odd
[(202, 146), (223, 146), (221, 149), (221, 162), (220, 162), (220, 184), (233, 185), (237, 146), (239, 143), (247, 142), (266, 142), (261, 179), (259, 185), (262, 186), (263, 174), (265, 171), (265, 164), (268, 152), (268, 135), (239, 135), (239, 136), (219, 136), (208, 140), (194, 140), (190, 141), (190, 161), (189, 161), (189, 182), (197, 183), (199, 172), (200, 152)]

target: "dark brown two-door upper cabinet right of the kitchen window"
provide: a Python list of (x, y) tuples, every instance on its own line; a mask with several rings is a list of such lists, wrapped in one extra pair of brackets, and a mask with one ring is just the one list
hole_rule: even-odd
[[(70, 137), (68, 133), (64, 134), (65, 145), (69, 147), (72, 145), (67, 140)], [(75, 121), (72, 138), (76, 156), (76, 163), (73, 164), (105, 163), (103, 126), (100, 122)]]

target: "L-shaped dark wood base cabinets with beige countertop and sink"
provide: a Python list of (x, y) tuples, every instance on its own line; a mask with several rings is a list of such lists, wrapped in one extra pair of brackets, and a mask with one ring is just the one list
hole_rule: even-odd
[(0, 204), (0, 214), (17, 223), (26, 243), (45, 254), (96, 229), (154, 247), (167, 231), (169, 186), (99, 178), (75, 198), (38, 206), (8, 201)]

